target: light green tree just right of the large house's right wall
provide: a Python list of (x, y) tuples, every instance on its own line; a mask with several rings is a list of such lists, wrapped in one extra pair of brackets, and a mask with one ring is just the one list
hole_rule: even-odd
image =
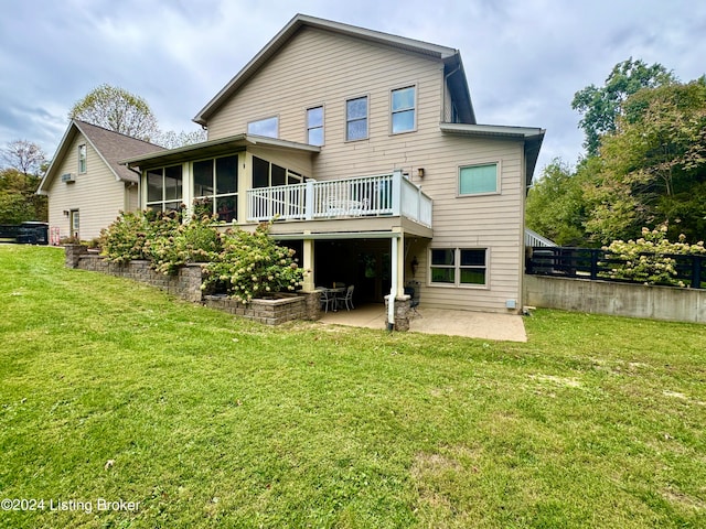
[(573, 172), (559, 159), (547, 165), (527, 195), (526, 225), (560, 246), (586, 246), (586, 171)]

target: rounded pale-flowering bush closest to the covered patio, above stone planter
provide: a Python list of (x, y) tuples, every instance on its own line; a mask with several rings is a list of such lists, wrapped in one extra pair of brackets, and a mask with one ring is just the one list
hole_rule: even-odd
[(254, 233), (228, 229), (222, 237), (223, 251), (204, 267), (202, 289), (225, 285), (231, 298), (249, 303), (277, 292), (301, 287), (304, 271), (297, 264), (295, 250), (277, 246), (269, 236), (269, 224)]

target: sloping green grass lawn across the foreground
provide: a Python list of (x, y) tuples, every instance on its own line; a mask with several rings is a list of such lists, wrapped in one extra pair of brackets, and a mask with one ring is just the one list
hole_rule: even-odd
[(706, 526), (703, 325), (270, 328), (19, 246), (0, 307), (0, 527)]

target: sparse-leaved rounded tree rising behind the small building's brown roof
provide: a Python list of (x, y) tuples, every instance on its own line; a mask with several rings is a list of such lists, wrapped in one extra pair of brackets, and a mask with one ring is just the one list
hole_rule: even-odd
[(107, 84), (92, 90), (68, 112), (78, 119), (145, 141), (159, 136), (157, 118), (145, 99)]

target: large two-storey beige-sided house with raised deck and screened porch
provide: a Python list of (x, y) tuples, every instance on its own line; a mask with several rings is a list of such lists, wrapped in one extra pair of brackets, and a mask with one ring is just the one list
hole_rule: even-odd
[(478, 125), (457, 50), (295, 17), (196, 115), (208, 140), (133, 156), (141, 206), (205, 201), (271, 234), (306, 290), (522, 310), (524, 202), (544, 138)]

